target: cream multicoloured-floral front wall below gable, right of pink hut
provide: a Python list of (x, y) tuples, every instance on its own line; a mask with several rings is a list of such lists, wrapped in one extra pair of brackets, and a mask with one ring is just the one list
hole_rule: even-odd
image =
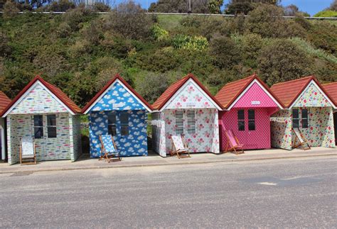
[[(333, 128), (333, 111), (331, 107), (310, 107), (309, 126), (299, 129), (312, 147), (336, 147), (335, 131)], [(299, 117), (301, 117), (301, 108), (299, 108)], [(292, 135), (294, 143), (295, 135)]]

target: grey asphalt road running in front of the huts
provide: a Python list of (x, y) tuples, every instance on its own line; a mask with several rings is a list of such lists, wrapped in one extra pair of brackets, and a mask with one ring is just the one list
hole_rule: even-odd
[(337, 228), (336, 165), (317, 157), (1, 174), (0, 227)]

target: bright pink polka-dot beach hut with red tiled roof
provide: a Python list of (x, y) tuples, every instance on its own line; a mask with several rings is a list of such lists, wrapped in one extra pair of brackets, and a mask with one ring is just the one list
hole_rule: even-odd
[(271, 147), (270, 116), (283, 106), (256, 74), (226, 84), (215, 98), (224, 108), (219, 113), (221, 151), (228, 144), (228, 130), (245, 150)]

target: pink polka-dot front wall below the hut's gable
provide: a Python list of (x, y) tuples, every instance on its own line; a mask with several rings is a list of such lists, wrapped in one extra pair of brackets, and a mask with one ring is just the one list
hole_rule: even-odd
[[(240, 108), (241, 109), (241, 108)], [(220, 150), (223, 151), (228, 144), (228, 139), (223, 130), (232, 130), (239, 142), (245, 145), (245, 149), (266, 149), (270, 147), (270, 116), (268, 108), (252, 108), (255, 110), (255, 130), (248, 129), (248, 109), (245, 112), (245, 130), (239, 131), (237, 110), (232, 108), (230, 111), (220, 111), (221, 126)]]

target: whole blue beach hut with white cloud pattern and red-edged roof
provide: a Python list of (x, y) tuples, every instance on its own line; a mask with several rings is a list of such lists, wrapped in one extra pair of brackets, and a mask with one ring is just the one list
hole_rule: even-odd
[(117, 74), (82, 109), (89, 115), (90, 157), (100, 157), (100, 135), (110, 134), (121, 156), (147, 156), (149, 105)]

